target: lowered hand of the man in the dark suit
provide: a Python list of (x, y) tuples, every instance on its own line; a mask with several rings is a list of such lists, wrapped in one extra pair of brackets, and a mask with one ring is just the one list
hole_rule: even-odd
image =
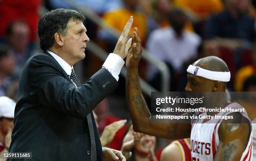
[(120, 151), (102, 147), (102, 160), (103, 161), (126, 161), (125, 157)]

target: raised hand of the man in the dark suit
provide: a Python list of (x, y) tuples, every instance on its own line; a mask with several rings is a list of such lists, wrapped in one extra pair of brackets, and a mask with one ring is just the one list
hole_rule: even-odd
[[(125, 59), (127, 56), (128, 50), (131, 47), (131, 38), (127, 41), (128, 34), (130, 32), (131, 26), (133, 24), (133, 16), (131, 16), (123, 28), (123, 32), (121, 36), (118, 38), (118, 42), (116, 43), (115, 49), (113, 53), (120, 56), (122, 59)], [(127, 42), (126, 42), (127, 41)]]

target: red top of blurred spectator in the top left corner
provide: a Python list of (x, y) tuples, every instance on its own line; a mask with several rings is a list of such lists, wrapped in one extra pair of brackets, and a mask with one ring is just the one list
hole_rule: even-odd
[(41, 0), (0, 0), (0, 38), (6, 36), (8, 24), (14, 20), (24, 20), (31, 33), (28, 41), (36, 42), (40, 5)]

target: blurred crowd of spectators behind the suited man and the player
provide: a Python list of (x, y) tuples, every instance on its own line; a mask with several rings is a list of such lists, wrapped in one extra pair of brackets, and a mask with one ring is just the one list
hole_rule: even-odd
[[(77, 9), (76, 6), (94, 12), (118, 31), (133, 15), (132, 28), (138, 28), (143, 47), (148, 51), (143, 54), (164, 61), (169, 68), (168, 91), (184, 91), (187, 66), (205, 56), (218, 56), (228, 64), (229, 91), (256, 91), (256, 0), (0, 0), (0, 96), (17, 101), (18, 79), (24, 64), (29, 57), (43, 53), (37, 36), (41, 14), (56, 8)], [(108, 53), (113, 52), (117, 39), (92, 19), (87, 17), (85, 22), (90, 40)], [(81, 80), (92, 76), (102, 64), (87, 50), (80, 68)], [(161, 90), (156, 66), (142, 60), (139, 72), (146, 82)], [(124, 84), (125, 79), (120, 78), (115, 97), (125, 99)], [(118, 101), (112, 97), (109, 102)], [(95, 108), (102, 144), (122, 150), (133, 161), (160, 160), (162, 149), (156, 150), (156, 138), (135, 133), (131, 123), (123, 120), (128, 119), (127, 115), (111, 114), (109, 102), (103, 100)], [(121, 106), (113, 103), (111, 109), (127, 111), (125, 105)], [(0, 115), (2, 130), (5, 114)], [(5, 135), (0, 138), (0, 146), (5, 144)], [(176, 144), (181, 142), (185, 143), (183, 140)], [(177, 150), (178, 146), (171, 145)], [(168, 149), (165, 153), (170, 155)]]

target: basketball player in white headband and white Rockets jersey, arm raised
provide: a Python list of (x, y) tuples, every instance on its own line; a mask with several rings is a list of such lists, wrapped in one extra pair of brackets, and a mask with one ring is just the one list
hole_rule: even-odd
[[(135, 29), (132, 47), (126, 58), (126, 101), (136, 132), (169, 139), (191, 139), (192, 161), (251, 161), (252, 126), (246, 112), (219, 112), (211, 115), (232, 116), (230, 120), (191, 120), (186, 123), (153, 123), (151, 113), (141, 93), (138, 63), (141, 59), (141, 40)], [(187, 92), (225, 92), (230, 80), (227, 64), (220, 58), (208, 56), (195, 61), (187, 69)], [(227, 97), (219, 97), (213, 107), (242, 108)], [(205, 115), (206, 113), (202, 113)], [(187, 113), (187, 115), (192, 115)], [(207, 115), (209, 115), (207, 113)], [(240, 123), (237, 123), (237, 122)], [(208, 122), (208, 123), (206, 123)]]

